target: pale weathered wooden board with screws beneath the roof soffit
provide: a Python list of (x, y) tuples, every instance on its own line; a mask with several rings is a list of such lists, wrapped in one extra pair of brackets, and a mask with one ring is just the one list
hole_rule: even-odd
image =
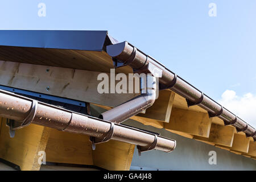
[[(101, 82), (97, 80), (99, 74), (100, 72), (80, 69), (0, 61), (0, 85), (112, 107), (139, 95), (98, 93), (97, 87)], [(110, 80), (110, 73), (106, 74)], [(127, 79), (127, 85), (131, 84), (134, 83)], [(50, 89), (47, 91), (48, 86)]]

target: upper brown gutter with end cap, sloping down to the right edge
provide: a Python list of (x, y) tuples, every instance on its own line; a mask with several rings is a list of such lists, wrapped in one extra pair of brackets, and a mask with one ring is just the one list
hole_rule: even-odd
[(113, 57), (116, 68), (129, 65), (135, 72), (142, 73), (151, 72), (151, 69), (155, 67), (158, 68), (162, 71), (162, 77), (159, 77), (160, 89), (171, 89), (186, 98), (188, 106), (198, 105), (208, 111), (209, 117), (218, 117), (224, 121), (225, 125), (233, 125), (238, 132), (243, 131), (246, 137), (253, 137), (254, 141), (256, 140), (256, 130), (252, 126), (130, 43), (109, 45), (106, 51), (109, 56)]

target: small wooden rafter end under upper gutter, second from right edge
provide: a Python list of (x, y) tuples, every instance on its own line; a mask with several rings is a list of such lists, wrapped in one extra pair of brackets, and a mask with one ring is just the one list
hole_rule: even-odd
[(233, 145), (230, 150), (247, 153), (249, 151), (250, 139), (244, 135), (234, 134)]

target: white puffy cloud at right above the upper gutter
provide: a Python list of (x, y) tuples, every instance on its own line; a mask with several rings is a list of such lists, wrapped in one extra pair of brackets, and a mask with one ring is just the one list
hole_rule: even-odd
[(246, 93), (237, 96), (233, 90), (226, 90), (218, 101), (226, 109), (256, 128), (256, 96)]

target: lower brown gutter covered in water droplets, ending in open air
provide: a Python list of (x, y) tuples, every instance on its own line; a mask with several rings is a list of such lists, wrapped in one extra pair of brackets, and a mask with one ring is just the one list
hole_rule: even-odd
[(176, 147), (176, 141), (172, 139), (75, 113), (4, 90), (0, 90), (0, 117), (14, 120), (7, 123), (11, 131), (34, 123), (70, 133), (89, 135), (93, 144), (113, 139), (135, 144), (139, 151), (156, 149), (171, 152)]

